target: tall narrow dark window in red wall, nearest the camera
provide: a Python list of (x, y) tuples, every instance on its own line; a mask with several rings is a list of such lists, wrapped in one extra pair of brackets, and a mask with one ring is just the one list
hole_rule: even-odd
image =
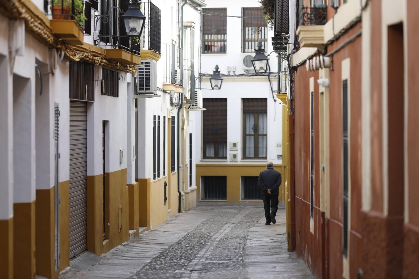
[(348, 256), (348, 80), (342, 82), (343, 112), (343, 255)]

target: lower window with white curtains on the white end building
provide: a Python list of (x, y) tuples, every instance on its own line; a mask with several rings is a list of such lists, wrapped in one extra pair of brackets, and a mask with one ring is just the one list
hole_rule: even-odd
[(268, 113), (266, 98), (243, 100), (243, 158), (266, 159), (268, 152)]

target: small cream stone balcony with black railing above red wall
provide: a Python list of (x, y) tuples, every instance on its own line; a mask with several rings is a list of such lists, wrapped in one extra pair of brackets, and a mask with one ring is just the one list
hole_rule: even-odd
[(322, 49), (324, 45), (323, 25), (327, 22), (326, 5), (301, 7), (298, 18), (297, 35), (300, 47)]

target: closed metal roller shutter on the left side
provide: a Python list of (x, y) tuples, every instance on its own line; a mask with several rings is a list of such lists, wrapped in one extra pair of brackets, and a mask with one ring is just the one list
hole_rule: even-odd
[(87, 250), (87, 103), (70, 102), (70, 258)]

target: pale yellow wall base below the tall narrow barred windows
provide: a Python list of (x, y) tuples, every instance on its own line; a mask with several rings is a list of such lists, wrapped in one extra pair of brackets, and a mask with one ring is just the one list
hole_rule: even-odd
[[(164, 182), (167, 177), (150, 183), (150, 228), (153, 229), (166, 222), (168, 205), (164, 204)], [(168, 186), (169, 187), (169, 186)]]

